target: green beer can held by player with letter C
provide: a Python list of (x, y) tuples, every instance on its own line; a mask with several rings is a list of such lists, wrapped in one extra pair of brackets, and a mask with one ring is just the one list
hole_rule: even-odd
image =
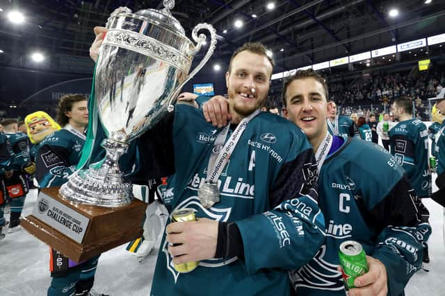
[(340, 245), (339, 259), (346, 290), (355, 288), (355, 279), (369, 271), (362, 245), (356, 241), (343, 241)]

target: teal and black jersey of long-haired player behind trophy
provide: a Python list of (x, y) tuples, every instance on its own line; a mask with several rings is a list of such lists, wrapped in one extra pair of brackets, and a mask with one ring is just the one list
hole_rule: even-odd
[(58, 130), (40, 142), (35, 157), (36, 172), (40, 188), (60, 186), (76, 171), (85, 139), (70, 132)]

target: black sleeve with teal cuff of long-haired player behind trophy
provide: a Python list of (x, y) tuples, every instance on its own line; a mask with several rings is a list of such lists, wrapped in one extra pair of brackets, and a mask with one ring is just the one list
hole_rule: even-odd
[(35, 179), (40, 188), (60, 186), (67, 182), (68, 177), (76, 171), (76, 166), (70, 166), (70, 153), (61, 146), (43, 145), (38, 149)]

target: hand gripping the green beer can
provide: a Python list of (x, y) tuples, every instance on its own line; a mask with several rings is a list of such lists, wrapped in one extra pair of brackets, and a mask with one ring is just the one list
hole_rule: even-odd
[(357, 288), (348, 291), (349, 296), (386, 296), (388, 294), (388, 277), (385, 265), (371, 256), (366, 256), (369, 272), (357, 277), (354, 285)]

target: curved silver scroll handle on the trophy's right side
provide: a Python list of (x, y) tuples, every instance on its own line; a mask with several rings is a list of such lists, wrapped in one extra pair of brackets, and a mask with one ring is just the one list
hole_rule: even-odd
[(191, 80), (191, 78), (193, 78), (193, 76), (196, 75), (197, 71), (200, 71), (200, 69), (202, 67), (204, 67), (204, 64), (207, 63), (207, 61), (209, 61), (211, 55), (213, 54), (213, 51), (215, 50), (215, 46), (216, 46), (216, 30), (215, 28), (213, 28), (213, 26), (211, 24), (197, 24), (195, 26), (195, 28), (193, 28), (192, 31), (192, 38), (193, 40), (195, 40), (195, 42), (197, 42), (195, 48), (190, 49), (190, 51), (188, 52), (188, 54), (190, 55), (195, 55), (196, 53), (198, 53), (201, 49), (202, 43), (206, 41), (206, 35), (204, 34), (200, 34), (199, 36), (197, 35), (197, 32), (200, 31), (201, 29), (205, 29), (207, 31), (209, 31), (210, 33), (210, 45), (209, 45), (209, 50), (207, 51), (206, 55), (204, 55), (204, 58), (201, 60), (200, 64), (198, 64), (195, 69), (193, 69), (193, 71), (188, 74), (186, 80), (184, 80), (176, 89), (175, 93), (173, 93), (173, 95), (170, 97), (170, 100), (168, 101), (168, 112), (172, 112), (175, 109), (175, 105), (172, 105), (173, 100), (175, 100), (175, 98), (179, 95), (179, 92), (181, 92), (182, 87), (188, 82), (188, 80)]

